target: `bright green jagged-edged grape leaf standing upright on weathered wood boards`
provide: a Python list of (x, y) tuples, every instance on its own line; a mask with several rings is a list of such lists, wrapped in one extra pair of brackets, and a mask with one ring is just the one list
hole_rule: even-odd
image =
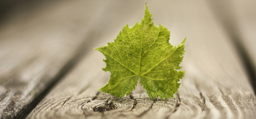
[(116, 95), (117, 99), (129, 95), (138, 79), (151, 99), (173, 98), (184, 76), (180, 63), (184, 54), (184, 42), (178, 46), (169, 43), (170, 31), (155, 26), (148, 10), (140, 23), (129, 28), (124, 26), (114, 42), (95, 48), (106, 57), (104, 71), (110, 71), (110, 79), (101, 91)]

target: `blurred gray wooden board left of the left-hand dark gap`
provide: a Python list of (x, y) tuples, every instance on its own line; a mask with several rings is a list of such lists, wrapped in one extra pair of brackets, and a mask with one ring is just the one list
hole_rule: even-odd
[(77, 3), (29, 5), (31, 9), (25, 3), (12, 10), (0, 25), (1, 119), (23, 115), (35, 98), (72, 67), (91, 48), (90, 39), (98, 35), (92, 33), (94, 24), (102, 19), (100, 13), (87, 11), (90, 6), (74, 10), (84, 7)]

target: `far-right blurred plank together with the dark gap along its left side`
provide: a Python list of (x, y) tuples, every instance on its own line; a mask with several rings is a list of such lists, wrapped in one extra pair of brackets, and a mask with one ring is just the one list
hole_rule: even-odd
[(208, 1), (209, 6), (226, 29), (230, 40), (246, 67), (251, 85), (256, 92), (256, 2), (247, 1)]

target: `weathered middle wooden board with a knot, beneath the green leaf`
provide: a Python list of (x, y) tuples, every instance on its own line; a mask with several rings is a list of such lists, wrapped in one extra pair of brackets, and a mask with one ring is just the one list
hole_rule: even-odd
[[(84, 4), (83, 1), (77, 1)], [(107, 4), (103, 8), (101, 5)], [(125, 24), (134, 25), (143, 17), (143, 1), (108, 1), (90, 11), (105, 9), (108, 27), (93, 47), (113, 42)], [(256, 97), (249, 84), (238, 53), (230, 37), (212, 15), (205, 1), (147, 1), (153, 22), (171, 30), (173, 45), (187, 37), (184, 61), (186, 70), (175, 98), (151, 100), (142, 86), (128, 97), (116, 99), (96, 89), (104, 86), (109, 72), (104, 72), (103, 55), (90, 49), (83, 59), (34, 108), (29, 119), (41, 118), (145, 118), (145, 119), (253, 119)], [(132, 9), (131, 8), (137, 8)], [(131, 8), (131, 9), (130, 9)], [(120, 12), (121, 11), (121, 12)], [(120, 19), (120, 18), (123, 19)], [(114, 20), (114, 22), (112, 21)], [(109, 30), (111, 29), (111, 30)], [(95, 31), (97, 32), (97, 31)], [(96, 33), (97, 34), (97, 33)], [(95, 40), (95, 39), (91, 39)]]

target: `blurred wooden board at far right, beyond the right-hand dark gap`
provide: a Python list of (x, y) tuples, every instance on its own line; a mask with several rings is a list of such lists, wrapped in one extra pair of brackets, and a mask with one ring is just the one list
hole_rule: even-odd
[(234, 9), (238, 16), (237, 25), (240, 29), (241, 44), (246, 50), (248, 60), (246, 61), (251, 83), (256, 92), (256, 1), (234, 1)]

